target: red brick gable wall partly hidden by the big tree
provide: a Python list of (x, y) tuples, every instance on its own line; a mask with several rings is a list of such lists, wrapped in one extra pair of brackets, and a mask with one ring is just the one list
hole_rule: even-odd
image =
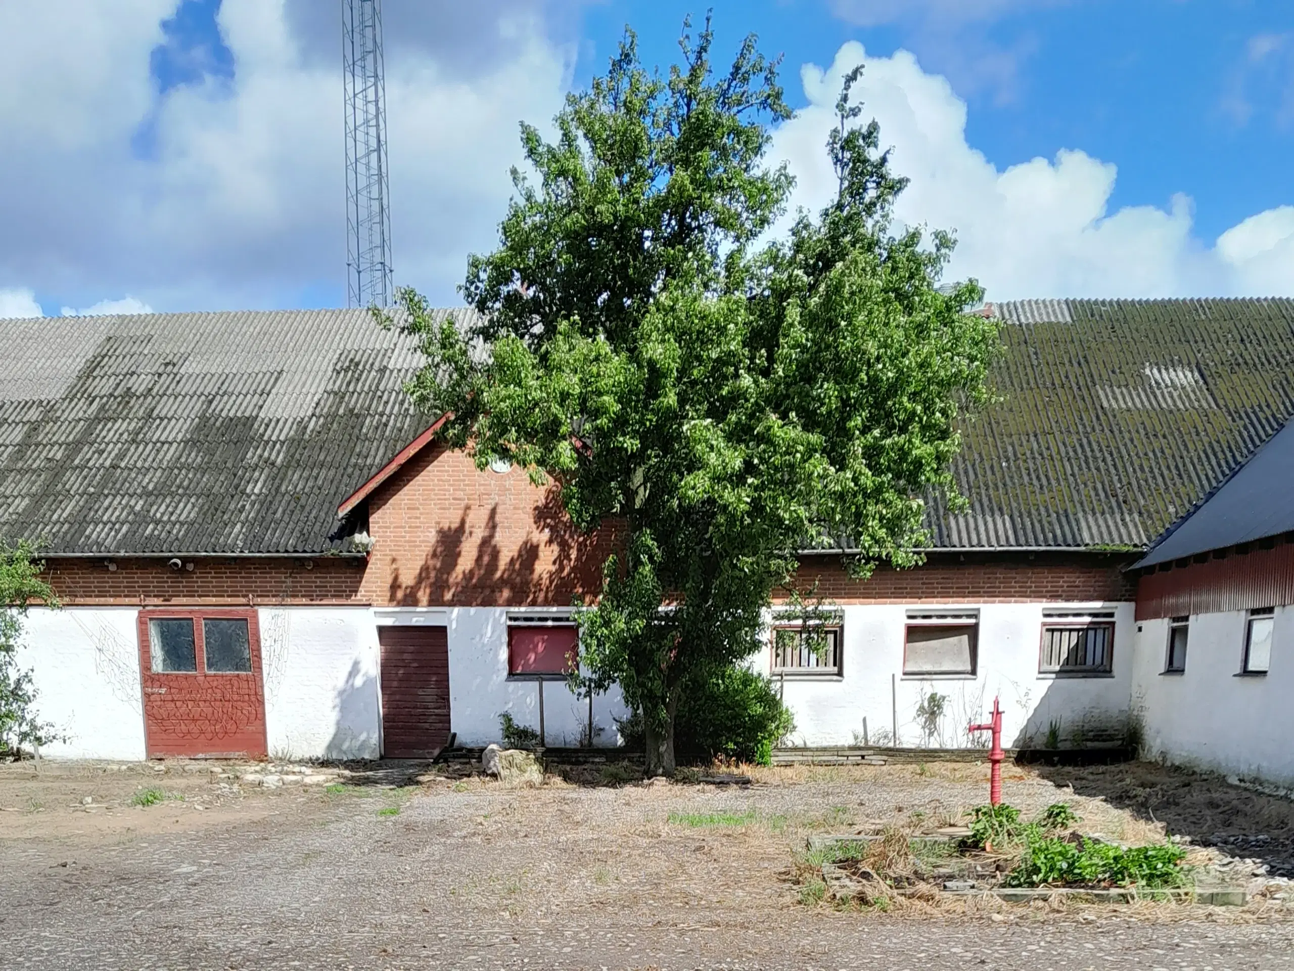
[(609, 527), (578, 535), (556, 487), (519, 469), (477, 471), (439, 445), (370, 497), (369, 535), (361, 598), (410, 606), (569, 606), (602, 588), (615, 542)]

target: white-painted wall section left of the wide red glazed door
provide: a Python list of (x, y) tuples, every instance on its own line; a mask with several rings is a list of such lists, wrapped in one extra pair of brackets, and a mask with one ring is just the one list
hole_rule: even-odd
[(43, 756), (145, 757), (137, 616), (132, 607), (27, 612), (18, 667), (32, 673), (38, 717), (65, 737)]

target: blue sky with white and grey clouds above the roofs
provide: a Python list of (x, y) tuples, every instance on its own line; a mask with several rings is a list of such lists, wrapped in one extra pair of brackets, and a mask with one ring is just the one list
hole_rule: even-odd
[[(336, 4), (0, 9), (0, 313), (344, 300)], [(57, 9), (53, 9), (57, 8)], [(1269, 0), (719, 0), (804, 109), (774, 142), (822, 201), (844, 70), (990, 299), (1294, 294), (1294, 5)], [(675, 0), (384, 0), (399, 282), (455, 299), (516, 161), (625, 25), (677, 56)], [(69, 27), (69, 25), (71, 25)], [(817, 65), (822, 71), (809, 70)], [(6, 76), (8, 75), (8, 76)], [(805, 83), (807, 79), (807, 85)]]

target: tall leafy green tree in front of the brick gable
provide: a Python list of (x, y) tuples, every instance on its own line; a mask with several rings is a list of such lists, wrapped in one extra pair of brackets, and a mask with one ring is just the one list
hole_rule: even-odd
[(400, 293), (427, 356), (409, 391), (453, 414), (448, 444), (553, 476), (584, 530), (624, 524), (581, 615), (585, 686), (620, 684), (652, 773), (674, 769), (688, 685), (762, 646), (797, 550), (848, 540), (858, 576), (919, 561), (921, 496), (951, 492), (955, 419), (996, 346), (963, 312), (978, 286), (936, 289), (951, 237), (893, 227), (906, 183), (855, 120), (858, 71), (827, 145), (835, 201), (770, 241), (792, 189), (765, 159), (791, 115), (776, 63), (752, 36), (716, 73), (709, 22), (688, 30), (668, 76), (626, 31), (554, 141), (523, 124), (537, 183), (512, 172), (499, 247), (463, 286), (483, 322)]

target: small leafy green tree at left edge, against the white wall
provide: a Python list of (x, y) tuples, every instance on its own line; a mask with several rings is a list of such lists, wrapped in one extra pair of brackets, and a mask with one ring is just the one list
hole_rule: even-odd
[(54, 739), (53, 728), (36, 720), (31, 672), (21, 671), (17, 659), (27, 605), (58, 605), (40, 579), (43, 568), (27, 544), (0, 546), (0, 757), (18, 756), (25, 746)]

